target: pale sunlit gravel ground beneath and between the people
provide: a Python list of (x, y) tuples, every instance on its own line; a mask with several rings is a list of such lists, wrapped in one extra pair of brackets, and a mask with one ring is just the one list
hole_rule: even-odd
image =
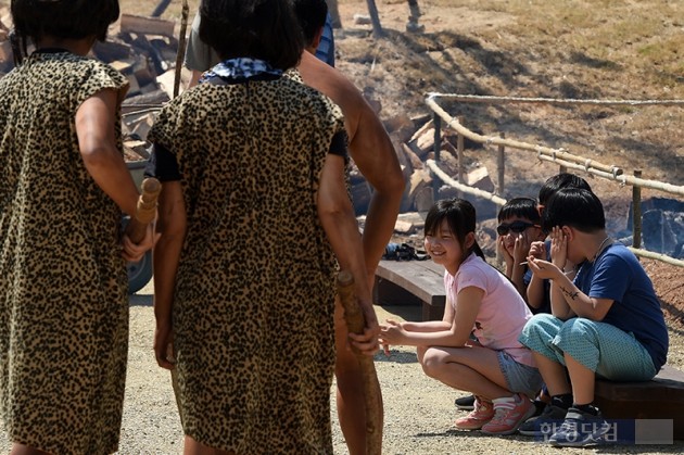
[[(152, 286), (148, 285), (130, 300), (130, 349), (121, 454), (182, 453), (182, 430), (170, 378), (156, 366), (152, 355)], [(419, 317), (417, 307), (377, 307), (377, 311), (382, 320), (388, 317), (417, 320)], [(684, 337), (681, 330), (671, 331), (671, 337), (670, 357), (673, 364), (681, 366)], [(393, 349), (390, 357), (378, 354), (376, 361), (384, 400), (384, 454), (544, 454), (553, 451), (525, 437), (489, 437), (455, 430), (453, 421), (459, 412), (454, 407), (454, 399), (463, 393), (425, 376), (413, 349)], [(333, 393), (330, 396), (334, 453), (345, 454)], [(0, 442), (0, 452), (9, 452), (7, 441)], [(563, 454), (591, 452), (683, 453), (684, 441), (675, 441), (674, 445), (563, 450)]]

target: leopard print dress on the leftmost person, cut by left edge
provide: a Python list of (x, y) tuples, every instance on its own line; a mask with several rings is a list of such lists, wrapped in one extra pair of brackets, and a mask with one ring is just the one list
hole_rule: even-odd
[(123, 97), (126, 86), (112, 67), (58, 50), (0, 79), (0, 420), (12, 441), (54, 454), (118, 445), (122, 214), (85, 168), (75, 115), (96, 92)]

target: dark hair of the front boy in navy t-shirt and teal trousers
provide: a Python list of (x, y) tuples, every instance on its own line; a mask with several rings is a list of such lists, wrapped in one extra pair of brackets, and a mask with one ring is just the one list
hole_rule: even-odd
[(542, 228), (570, 226), (582, 232), (596, 232), (606, 228), (604, 205), (592, 191), (581, 188), (562, 188), (548, 200), (542, 215)]

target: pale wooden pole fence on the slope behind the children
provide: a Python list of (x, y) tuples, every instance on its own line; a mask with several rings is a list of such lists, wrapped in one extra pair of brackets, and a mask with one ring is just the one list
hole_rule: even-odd
[[(659, 180), (644, 179), (641, 177), (641, 170), (634, 170), (633, 175), (626, 175), (624, 169), (620, 166), (608, 165), (598, 161), (579, 156), (567, 152), (563, 149), (553, 149), (540, 144), (531, 144), (522, 141), (506, 139), (503, 134), (498, 136), (482, 136), (466, 128), (456, 117), (449, 115), (439, 103), (438, 99), (445, 98), (451, 100), (458, 100), (461, 102), (474, 102), (485, 104), (502, 104), (502, 103), (543, 103), (543, 104), (592, 104), (592, 105), (668, 105), (668, 106), (682, 106), (684, 108), (684, 100), (572, 100), (572, 99), (552, 99), (552, 98), (519, 98), (519, 97), (491, 97), (491, 96), (473, 96), (473, 94), (456, 94), (456, 93), (438, 93), (430, 92), (427, 94), (426, 104), (433, 112), (433, 125), (434, 125), (434, 160), (428, 160), (427, 166), (431, 173), (439, 177), (441, 181), (456, 188), (457, 190), (482, 198), (494, 202), (496, 205), (502, 206), (506, 203), (506, 200), (501, 197), (504, 194), (504, 175), (505, 175), (505, 148), (511, 148), (516, 150), (523, 150), (533, 152), (536, 154), (540, 161), (554, 163), (560, 166), (561, 172), (568, 169), (584, 172), (596, 177), (600, 177), (606, 180), (612, 180), (621, 186), (632, 186), (632, 207), (633, 207), (633, 224), (632, 224), (632, 247), (630, 250), (637, 256), (648, 257), (657, 261), (661, 261), (679, 267), (684, 267), (684, 261), (677, 260), (666, 254), (656, 253), (648, 250), (643, 250), (641, 247), (642, 241), (642, 188), (648, 188), (656, 191), (673, 194), (676, 197), (684, 197), (684, 186), (672, 185)], [(444, 125), (444, 126), (442, 126)], [(457, 159), (458, 159), (458, 181), (451, 178), (439, 167), (440, 152), (441, 152), (441, 138), (442, 128), (448, 128), (454, 130), (458, 135)], [(495, 192), (483, 191), (478, 188), (470, 187), (463, 184), (464, 181), (464, 139), (468, 138), (474, 142), (479, 142), (485, 146), (497, 146), (498, 159), (497, 159), (497, 174), (498, 182)], [(436, 199), (440, 181), (434, 179), (433, 191)]]

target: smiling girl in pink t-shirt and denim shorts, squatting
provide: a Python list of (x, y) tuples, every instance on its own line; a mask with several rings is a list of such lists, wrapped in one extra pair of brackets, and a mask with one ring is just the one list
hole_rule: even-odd
[(426, 375), (476, 395), (456, 427), (511, 434), (534, 414), (542, 387), (531, 352), (518, 342), (530, 309), (512, 283), (484, 261), (470, 202), (436, 202), (426, 218), (426, 251), (444, 266), (446, 306), (441, 321), (381, 326), (390, 344), (415, 345)]

